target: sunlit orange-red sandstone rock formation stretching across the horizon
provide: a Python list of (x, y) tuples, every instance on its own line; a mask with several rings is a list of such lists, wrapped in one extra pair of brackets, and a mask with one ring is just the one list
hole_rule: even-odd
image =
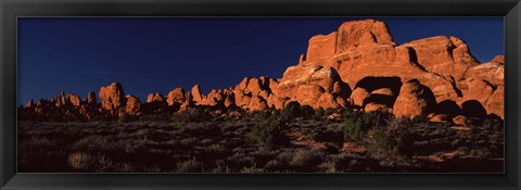
[(475, 116), (475, 109), (466, 110), (471, 103), (485, 115), (503, 118), (504, 58), (479, 63), (465, 41), (453, 36), (397, 45), (385, 23), (353, 21), (329, 35), (312, 37), (307, 52), (280, 79), (246, 77), (233, 88), (208, 94), (202, 94), (199, 85), (189, 91), (176, 88), (167, 97), (150, 93), (145, 103), (125, 96), (119, 83), (102, 87), (99, 94), (101, 104), (94, 92), (84, 101), (62, 92), (50, 101), (30, 100), (21, 112), (28, 118), (53, 115), (89, 121), (191, 106), (260, 111), (296, 101), (315, 109), (386, 110), (396, 116), (421, 114), (452, 121), (458, 115)]

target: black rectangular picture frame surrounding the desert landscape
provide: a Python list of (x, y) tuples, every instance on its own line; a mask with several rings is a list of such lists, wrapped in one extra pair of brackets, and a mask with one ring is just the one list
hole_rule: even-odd
[[(0, 0), (0, 189), (520, 189), (519, 0)], [(504, 16), (505, 174), (16, 174), (20, 16)]]

